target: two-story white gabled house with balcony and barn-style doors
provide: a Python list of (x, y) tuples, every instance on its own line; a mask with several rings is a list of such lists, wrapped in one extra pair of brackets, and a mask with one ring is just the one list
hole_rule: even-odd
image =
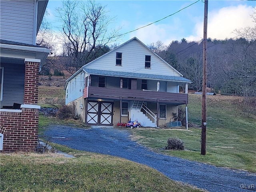
[[(82, 66), (66, 80), (66, 104), (89, 125), (136, 120), (166, 126), (178, 106), (188, 103), (191, 81), (136, 37)], [(180, 93), (180, 85), (186, 92)]]

